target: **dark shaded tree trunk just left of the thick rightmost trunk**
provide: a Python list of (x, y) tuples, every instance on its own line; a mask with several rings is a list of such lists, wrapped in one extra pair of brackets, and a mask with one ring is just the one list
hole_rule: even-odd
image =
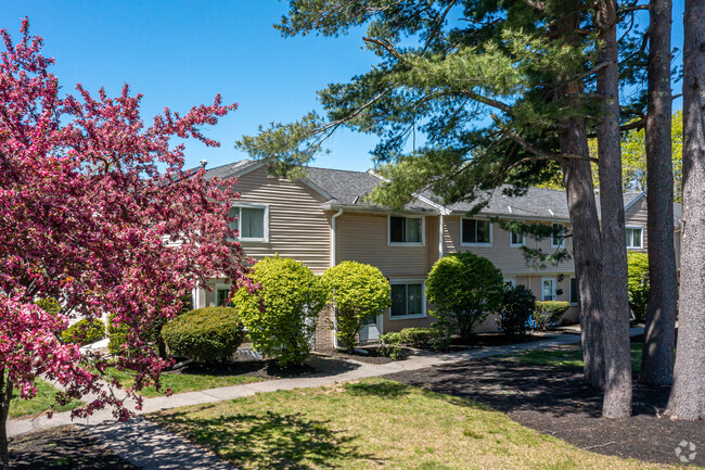
[(649, 283), (640, 380), (670, 385), (676, 347), (678, 278), (674, 246), (671, 162), (670, 0), (651, 0), (649, 13), (649, 102), (646, 114), (646, 202)]

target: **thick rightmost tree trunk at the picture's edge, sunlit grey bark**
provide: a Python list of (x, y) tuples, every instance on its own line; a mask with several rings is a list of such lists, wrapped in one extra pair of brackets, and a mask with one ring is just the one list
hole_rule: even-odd
[(672, 419), (705, 419), (705, 1), (685, 0), (683, 226)]

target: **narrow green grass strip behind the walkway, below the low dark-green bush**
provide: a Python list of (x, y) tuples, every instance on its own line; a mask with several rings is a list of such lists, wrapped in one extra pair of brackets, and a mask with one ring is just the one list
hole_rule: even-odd
[[(117, 369), (107, 369), (111, 377), (116, 377), (127, 389), (134, 384), (133, 374), (119, 371)], [(167, 386), (171, 388), (171, 393), (195, 392), (198, 390), (217, 389), (219, 386), (242, 385), (245, 383), (261, 382), (266, 379), (253, 376), (208, 376), (202, 373), (162, 373), (162, 389), (157, 392), (153, 386), (143, 389), (140, 395), (152, 398), (155, 396), (166, 395)]]

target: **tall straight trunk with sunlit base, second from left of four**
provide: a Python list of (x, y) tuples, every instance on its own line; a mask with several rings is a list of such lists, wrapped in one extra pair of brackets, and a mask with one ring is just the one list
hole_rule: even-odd
[(617, 67), (617, 4), (601, 0), (597, 24), (602, 48), (598, 62), (606, 64), (597, 74), (597, 92), (603, 100), (598, 123), (598, 168), (602, 215), (602, 298), (604, 315), (603, 354), (605, 393), (602, 416), (631, 415), (631, 360), (629, 351), (629, 300), (627, 296), (627, 246), (621, 193), (621, 149), (619, 136), (619, 69)]

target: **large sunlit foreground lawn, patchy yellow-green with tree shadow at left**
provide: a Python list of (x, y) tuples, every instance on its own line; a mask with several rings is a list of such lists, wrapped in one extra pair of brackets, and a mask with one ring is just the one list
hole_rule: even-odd
[(150, 415), (246, 469), (663, 469), (581, 450), (462, 398), (383, 379)]

